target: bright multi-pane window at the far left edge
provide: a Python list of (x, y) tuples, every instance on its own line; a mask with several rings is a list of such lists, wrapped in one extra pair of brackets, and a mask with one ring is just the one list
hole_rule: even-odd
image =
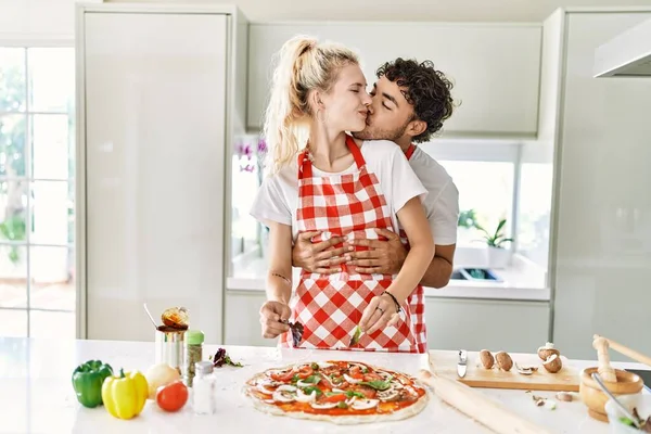
[(0, 335), (76, 333), (74, 48), (0, 48)]

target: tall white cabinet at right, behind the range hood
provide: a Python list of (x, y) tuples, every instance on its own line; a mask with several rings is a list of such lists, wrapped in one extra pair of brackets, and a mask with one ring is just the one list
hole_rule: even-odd
[(596, 357), (595, 333), (651, 353), (651, 77), (593, 78), (595, 50), (651, 18), (635, 9), (563, 10), (546, 23), (558, 33), (546, 51), (559, 53), (558, 86), (545, 88), (558, 106), (545, 123), (556, 144), (553, 340), (573, 358)]

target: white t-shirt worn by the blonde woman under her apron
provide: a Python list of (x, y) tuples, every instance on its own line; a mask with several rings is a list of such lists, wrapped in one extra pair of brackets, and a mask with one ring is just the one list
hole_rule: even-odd
[[(390, 207), (394, 232), (398, 233), (396, 213), (412, 197), (420, 196), (424, 201), (427, 190), (411, 169), (400, 146), (387, 140), (365, 141), (361, 155), (366, 161), (367, 170), (375, 174), (380, 189), (384, 193)], [(292, 227), (294, 240), (298, 234), (296, 208), (298, 206), (298, 161), (284, 166), (279, 173), (265, 178), (257, 192), (251, 215), (258, 221), (276, 221)], [(312, 166), (315, 177), (343, 175), (358, 171), (353, 163), (346, 170), (332, 174), (324, 173)]]

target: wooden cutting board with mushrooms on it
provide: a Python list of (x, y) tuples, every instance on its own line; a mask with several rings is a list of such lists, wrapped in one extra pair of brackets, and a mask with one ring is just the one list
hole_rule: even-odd
[[(495, 353), (493, 354), (495, 356)], [(572, 361), (561, 356), (563, 368), (557, 373), (549, 373), (535, 354), (509, 353), (513, 363), (520, 366), (537, 366), (538, 371), (532, 375), (518, 373), (515, 366), (509, 372), (497, 367), (484, 369), (480, 362), (480, 354), (468, 352), (468, 368), (465, 376), (457, 374), (458, 352), (431, 350), (430, 359), (433, 369), (438, 375), (458, 380), (471, 387), (516, 388), (526, 391), (564, 391), (578, 392), (579, 371), (572, 366)]]

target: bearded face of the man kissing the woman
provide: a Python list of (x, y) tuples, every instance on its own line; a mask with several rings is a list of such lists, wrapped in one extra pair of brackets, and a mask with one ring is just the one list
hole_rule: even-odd
[(398, 85), (385, 76), (378, 79), (370, 93), (372, 103), (367, 126), (353, 136), (362, 140), (397, 141), (405, 136), (407, 126), (412, 120), (413, 106), (407, 102)]

